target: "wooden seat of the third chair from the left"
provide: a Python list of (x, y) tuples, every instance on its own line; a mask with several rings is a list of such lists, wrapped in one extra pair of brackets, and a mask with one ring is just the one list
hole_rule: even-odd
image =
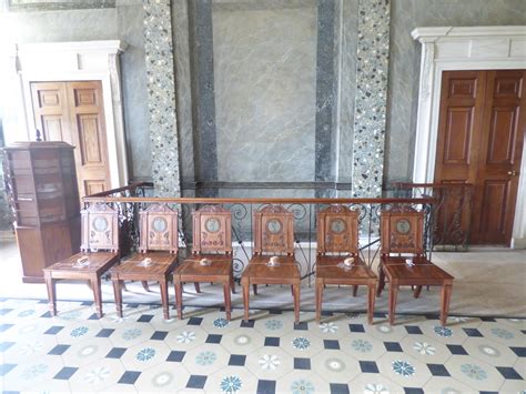
[[(210, 265), (201, 265), (201, 260), (208, 259), (212, 263)], [(181, 276), (202, 276), (206, 282), (214, 282), (213, 276), (231, 276), (232, 256), (221, 254), (193, 254), (184, 260), (173, 272), (174, 275)], [(211, 279), (209, 279), (211, 277)]]

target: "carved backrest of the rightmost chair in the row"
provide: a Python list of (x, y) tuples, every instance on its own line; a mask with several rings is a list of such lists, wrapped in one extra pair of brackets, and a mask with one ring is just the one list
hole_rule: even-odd
[(381, 253), (425, 254), (424, 212), (408, 205), (382, 211)]

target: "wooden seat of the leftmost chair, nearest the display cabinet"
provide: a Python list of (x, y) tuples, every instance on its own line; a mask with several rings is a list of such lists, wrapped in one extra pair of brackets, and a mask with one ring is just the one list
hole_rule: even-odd
[[(88, 257), (89, 264), (75, 266), (79, 259)], [(84, 277), (100, 274), (119, 261), (119, 253), (113, 252), (82, 252), (54, 263), (43, 271), (51, 273), (57, 279)]]

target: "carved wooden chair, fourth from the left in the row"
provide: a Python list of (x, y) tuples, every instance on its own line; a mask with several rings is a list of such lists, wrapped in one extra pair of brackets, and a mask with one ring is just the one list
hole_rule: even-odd
[[(271, 266), (269, 262), (275, 261)], [(254, 213), (254, 253), (243, 272), (244, 320), (249, 320), (250, 285), (290, 284), (294, 296), (295, 322), (300, 322), (300, 270), (294, 259), (294, 218), (281, 205), (269, 205)]]

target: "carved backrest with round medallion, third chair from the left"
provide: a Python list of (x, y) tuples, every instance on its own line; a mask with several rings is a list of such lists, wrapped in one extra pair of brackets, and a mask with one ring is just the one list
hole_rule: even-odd
[(204, 205), (192, 213), (192, 253), (232, 254), (232, 213), (220, 205)]

